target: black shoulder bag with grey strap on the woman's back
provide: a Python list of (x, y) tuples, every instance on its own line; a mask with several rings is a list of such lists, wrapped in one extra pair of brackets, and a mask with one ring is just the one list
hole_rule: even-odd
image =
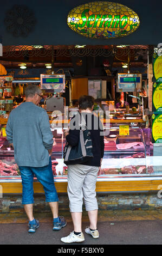
[[(84, 120), (84, 119), (83, 119)], [(85, 120), (80, 124), (80, 137), (79, 143), (72, 147), (67, 142), (63, 150), (64, 163), (69, 164), (82, 164), (92, 159), (92, 139), (90, 137), (90, 131), (87, 129)]]

